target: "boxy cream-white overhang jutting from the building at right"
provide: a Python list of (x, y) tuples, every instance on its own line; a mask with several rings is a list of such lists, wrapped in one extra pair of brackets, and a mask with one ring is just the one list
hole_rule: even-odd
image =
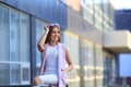
[(131, 53), (131, 33), (129, 30), (106, 32), (103, 35), (104, 48), (116, 53)]

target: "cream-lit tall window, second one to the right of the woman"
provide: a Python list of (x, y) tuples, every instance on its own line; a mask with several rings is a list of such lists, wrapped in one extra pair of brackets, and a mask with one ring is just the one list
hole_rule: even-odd
[(81, 38), (81, 62), (84, 66), (85, 87), (94, 87), (94, 46), (93, 42)]

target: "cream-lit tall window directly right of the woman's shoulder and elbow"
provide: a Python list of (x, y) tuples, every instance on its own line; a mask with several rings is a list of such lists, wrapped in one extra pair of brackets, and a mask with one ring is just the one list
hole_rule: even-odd
[(79, 36), (70, 32), (64, 32), (63, 37), (63, 42), (74, 64), (74, 70), (69, 73), (69, 86), (80, 87), (80, 75), (78, 73), (78, 71), (80, 71)]

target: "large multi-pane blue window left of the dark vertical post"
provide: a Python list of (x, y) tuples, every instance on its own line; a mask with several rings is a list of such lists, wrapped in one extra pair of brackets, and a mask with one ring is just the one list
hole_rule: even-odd
[(29, 84), (29, 16), (0, 3), (0, 86)]

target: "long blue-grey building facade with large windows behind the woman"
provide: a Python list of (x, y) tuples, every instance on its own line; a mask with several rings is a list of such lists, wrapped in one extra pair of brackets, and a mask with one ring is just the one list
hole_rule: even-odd
[(37, 42), (45, 24), (55, 22), (61, 26), (62, 42), (74, 63), (68, 73), (69, 87), (116, 84), (116, 54), (103, 48), (102, 35), (95, 37), (114, 28), (108, 0), (78, 0), (75, 9), (69, 0), (35, 0), (35, 9), (29, 1), (0, 1), (0, 86), (32, 84), (41, 61)]

